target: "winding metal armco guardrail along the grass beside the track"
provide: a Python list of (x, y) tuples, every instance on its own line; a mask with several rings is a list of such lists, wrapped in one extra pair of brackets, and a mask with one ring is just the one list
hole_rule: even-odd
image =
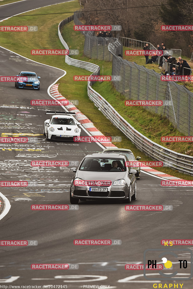
[[(64, 45), (65, 49), (68, 49), (67, 43), (61, 36), (60, 27), (62, 27), (63, 21), (58, 25), (58, 36), (60, 41)], [(116, 41), (116, 45), (119, 46), (119, 41)], [(108, 46), (111, 53), (115, 52), (115, 48), (112, 47), (112, 44)], [(114, 55), (116, 56), (116, 55)], [(122, 58), (118, 57), (121, 61)], [(81, 67), (89, 71), (95, 72), (92, 75), (100, 74), (100, 67), (93, 63), (88, 63), (85, 61), (71, 59), (68, 55), (65, 56), (65, 62), (69, 65), (76, 67)], [(88, 69), (89, 68), (89, 69)], [(155, 142), (152, 142), (150, 139), (146, 138), (144, 135), (139, 133), (134, 127), (132, 127), (113, 107), (106, 101), (98, 92), (96, 92), (92, 86), (91, 82), (88, 81), (87, 92), (89, 98), (94, 102), (95, 106), (108, 118), (113, 125), (115, 125), (120, 131), (122, 131), (127, 138), (129, 138), (135, 146), (143, 151), (146, 155), (150, 156), (154, 160), (170, 162), (172, 165), (171, 168), (177, 169), (182, 173), (193, 175), (193, 157), (189, 155), (184, 155), (181, 153), (176, 153), (171, 151)]]

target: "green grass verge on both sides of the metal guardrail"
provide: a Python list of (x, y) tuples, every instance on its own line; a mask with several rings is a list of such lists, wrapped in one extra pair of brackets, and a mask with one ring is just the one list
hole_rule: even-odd
[[(68, 2), (68, 3), (61, 3), (58, 5), (53, 5), (51, 7), (40, 8), (37, 11), (40, 14), (43, 13), (57, 13), (57, 12), (68, 12), (68, 11), (75, 11), (79, 9), (78, 1)], [(33, 12), (27, 12), (27, 14), (33, 14)], [(82, 113), (86, 114), (87, 117), (94, 123), (94, 125), (106, 136), (121, 136), (122, 142), (115, 143), (118, 147), (129, 148), (133, 151), (134, 155), (141, 156), (141, 160), (143, 161), (150, 161), (151, 159), (146, 156), (144, 153), (141, 153), (132, 142), (130, 142), (126, 136), (120, 132), (114, 125), (111, 124), (109, 120), (95, 107), (94, 103), (89, 100), (87, 95), (87, 82), (74, 82), (73, 75), (90, 75), (88, 71), (85, 71), (80, 68), (75, 68), (73, 66), (69, 66), (65, 63), (63, 56), (49, 56), (49, 55), (31, 55), (31, 49), (63, 49), (63, 46), (58, 38), (58, 23), (70, 16), (69, 14), (56, 14), (54, 17), (53, 15), (41, 15), (41, 16), (25, 16), (23, 14), (22, 17), (19, 19), (8, 19), (6, 20), (6, 25), (33, 25), (36, 23), (38, 26), (38, 31), (31, 33), (29, 32), (28, 37), (26, 37), (26, 33), (28, 32), (6, 32), (0, 34), (0, 42), (1, 45), (7, 49), (15, 51), (27, 58), (32, 60), (45, 63), (48, 65), (56, 66), (58, 68), (65, 69), (67, 71), (67, 75), (60, 79), (60, 86), (59, 90), (68, 99), (78, 99), (79, 105), (78, 108), (82, 111)], [(18, 22), (18, 23), (17, 23)], [(34, 35), (36, 37), (34, 37)], [(98, 64), (101, 68), (102, 65), (104, 66), (104, 75), (111, 75), (112, 64), (111, 62), (104, 62), (99, 60), (91, 60), (87, 57), (82, 55), (83, 46), (84, 46), (84, 36), (80, 34), (80, 32), (75, 32), (73, 30), (73, 23), (69, 23), (64, 27), (64, 39), (67, 41), (69, 48), (71, 49), (79, 49), (80, 54), (75, 56), (74, 58), (78, 58), (80, 60), (94, 62)], [(22, 46), (20, 45), (22, 43)], [(100, 86), (99, 86), (100, 85)], [(113, 90), (113, 87), (110, 83), (102, 83), (102, 84), (95, 84), (95, 89), (98, 90), (108, 101), (112, 101), (112, 105), (115, 106), (117, 103), (117, 98), (123, 98), (119, 93)], [(125, 108), (125, 107), (124, 107)], [(115, 109), (117, 109), (115, 107)], [(119, 110), (118, 110), (119, 111)], [(119, 111), (122, 115), (124, 111)], [(141, 117), (141, 123), (143, 123), (144, 119), (147, 122), (154, 123), (154, 117), (158, 117), (157, 115), (151, 115), (149, 112), (142, 110), (136, 111), (136, 115), (141, 115), (144, 113), (143, 117)], [(128, 111), (127, 111), (128, 114)], [(131, 112), (130, 112), (131, 114)], [(132, 118), (128, 114), (128, 120), (131, 122)], [(123, 115), (124, 116), (124, 115)], [(146, 120), (146, 117), (148, 120)], [(152, 118), (152, 120), (150, 120)], [(160, 124), (164, 124), (167, 127), (166, 122), (167, 120), (161, 119)], [(136, 129), (135, 118), (133, 115), (133, 123), (131, 123)], [(141, 124), (137, 124), (139, 128), (141, 128)], [(160, 128), (160, 125), (158, 125)], [(139, 129), (140, 130), (140, 129)], [(140, 130), (143, 133), (143, 130)], [(145, 131), (145, 130), (144, 130)], [(144, 134), (149, 136), (149, 132), (145, 131)], [(184, 174), (179, 173), (178, 171), (171, 170), (170, 168), (156, 168), (159, 171), (163, 171), (164, 173), (171, 174), (176, 177), (184, 178)], [(191, 176), (186, 175), (186, 179), (192, 179)]]

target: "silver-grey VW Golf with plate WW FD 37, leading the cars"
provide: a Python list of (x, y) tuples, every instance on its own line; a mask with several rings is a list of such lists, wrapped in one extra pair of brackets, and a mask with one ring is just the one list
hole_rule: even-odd
[(70, 203), (79, 199), (122, 199), (130, 203), (136, 199), (137, 173), (125, 155), (93, 153), (86, 155), (71, 180)]

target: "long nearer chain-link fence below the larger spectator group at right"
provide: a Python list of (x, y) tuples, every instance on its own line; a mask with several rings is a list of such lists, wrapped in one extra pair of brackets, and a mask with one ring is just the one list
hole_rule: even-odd
[(144, 106), (150, 112), (166, 116), (177, 129), (187, 136), (193, 135), (193, 93), (174, 81), (161, 81), (161, 74), (123, 60), (115, 55), (114, 43), (108, 46), (113, 55), (112, 75), (120, 75), (121, 81), (113, 81), (116, 90), (126, 100), (162, 100), (172, 105)]

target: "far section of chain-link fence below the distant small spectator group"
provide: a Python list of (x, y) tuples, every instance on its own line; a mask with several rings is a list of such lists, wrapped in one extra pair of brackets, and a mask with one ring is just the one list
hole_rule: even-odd
[[(78, 18), (83, 16), (82, 11), (74, 12), (75, 25), (82, 25)], [(109, 43), (115, 42), (116, 38), (97, 37), (93, 31), (80, 31), (84, 37), (84, 55), (99, 60), (112, 61), (112, 54), (108, 50)], [(121, 49), (122, 53), (123, 49)]]

